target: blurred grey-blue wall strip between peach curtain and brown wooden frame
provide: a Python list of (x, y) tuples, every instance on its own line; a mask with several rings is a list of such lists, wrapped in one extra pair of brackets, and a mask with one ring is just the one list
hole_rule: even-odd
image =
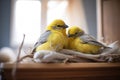
[(96, 0), (83, 0), (88, 32), (97, 38)]

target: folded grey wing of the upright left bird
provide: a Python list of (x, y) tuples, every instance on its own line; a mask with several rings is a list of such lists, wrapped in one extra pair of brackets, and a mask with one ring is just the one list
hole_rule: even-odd
[(45, 31), (43, 34), (41, 34), (40, 38), (38, 39), (38, 41), (35, 43), (34, 48), (38, 47), (39, 45), (45, 43), (49, 37), (49, 35), (51, 34), (50, 30)]

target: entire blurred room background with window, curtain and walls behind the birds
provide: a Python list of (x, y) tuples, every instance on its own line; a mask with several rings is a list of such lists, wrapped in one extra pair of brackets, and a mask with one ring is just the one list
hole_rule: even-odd
[[(33, 46), (54, 19), (80, 26), (98, 40), (104, 37), (108, 42), (115, 41), (120, 39), (113, 35), (119, 32), (119, 5), (119, 0), (0, 0), (0, 48), (17, 48), (23, 34), (26, 35), (24, 46)], [(116, 23), (116, 30), (112, 32), (113, 25), (106, 23)]]

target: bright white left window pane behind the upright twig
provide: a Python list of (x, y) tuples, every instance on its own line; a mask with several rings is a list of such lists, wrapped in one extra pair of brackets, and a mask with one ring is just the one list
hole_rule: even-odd
[(25, 44), (32, 44), (40, 35), (40, 0), (15, 0), (11, 44), (17, 46), (26, 35)]

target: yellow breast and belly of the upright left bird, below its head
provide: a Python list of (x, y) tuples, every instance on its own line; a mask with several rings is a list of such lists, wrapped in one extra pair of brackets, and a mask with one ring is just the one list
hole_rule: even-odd
[(36, 48), (36, 51), (39, 50), (55, 50), (55, 51), (59, 51), (61, 49), (63, 49), (63, 47), (65, 46), (66, 40), (65, 40), (65, 36), (57, 31), (52, 31), (52, 33), (50, 34), (50, 36), (47, 39), (47, 42), (41, 44), (40, 46), (38, 46)]

